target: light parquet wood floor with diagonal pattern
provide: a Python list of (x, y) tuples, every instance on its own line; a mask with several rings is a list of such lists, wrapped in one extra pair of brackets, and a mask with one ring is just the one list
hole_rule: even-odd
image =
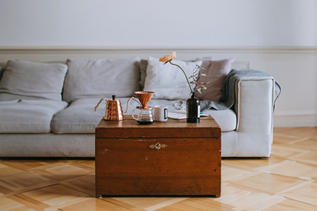
[(270, 158), (222, 158), (220, 198), (95, 198), (94, 159), (0, 159), (0, 211), (317, 211), (317, 128), (275, 128)]

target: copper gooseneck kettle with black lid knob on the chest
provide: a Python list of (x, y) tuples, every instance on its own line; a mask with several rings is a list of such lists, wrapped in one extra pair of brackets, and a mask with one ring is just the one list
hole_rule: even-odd
[(127, 109), (126, 111), (123, 113), (122, 111), (122, 106), (121, 106), (121, 101), (120, 100), (116, 100), (115, 99), (115, 95), (112, 95), (112, 100), (107, 100), (106, 98), (103, 98), (99, 101), (99, 103), (97, 104), (97, 106), (95, 107), (95, 111), (97, 109), (97, 107), (99, 106), (99, 104), (105, 100), (106, 101), (106, 114), (104, 119), (105, 120), (110, 120), (110, 121), (118, 121), (118, 120), (122, 120), (124, 119), (124, 114), (127, 113), (128, 111), (128, 104), (129, 101), (132, 99), (133, 97), (131, 97), (128, 102), (127, 102)]

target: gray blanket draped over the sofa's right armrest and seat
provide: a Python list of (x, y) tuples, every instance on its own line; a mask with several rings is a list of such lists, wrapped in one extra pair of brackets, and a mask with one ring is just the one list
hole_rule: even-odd
[[(225, 110), (233, 106), (234, 104), (234, 88), (237, 80), (241, 79), (257, 79), (257, 77), (268, 77), (270, 78), (271, 76), (262, 71), (258, 70), (253, 70), (253, 69), (242, 69), (242, 70), (236, 70), (233, 69), (229, 72), (229, 74), (226, 76), (223, 86), (222, 86), (222, 97), (220, 101), (208, 101), (208, 100), (201, 100), (200, 101), (200, 106), (201, 106), (201, 111), (208, 110), (208, 109), (216, 109), (216, 110)], [(274, 105), (275, 101), (278, 98), (280, 92), (281, 92), (281, 87), (279, 84), (274, 80)], [(181, 100), (174, 101), (173, 106), (178, 109), (186, 109), (186, 102), (183, 102)]]

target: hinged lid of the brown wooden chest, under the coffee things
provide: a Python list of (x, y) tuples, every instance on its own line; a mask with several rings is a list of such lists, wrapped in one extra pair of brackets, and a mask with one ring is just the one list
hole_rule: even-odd
[(131, 115), (121, 121), (102, 120), (96, 127), (96, 138), (220, 138), (221, 130), (211, 117), (201, 117), (200, 123), (186, 119), (168, 119), (149, 125), (137, 123)]

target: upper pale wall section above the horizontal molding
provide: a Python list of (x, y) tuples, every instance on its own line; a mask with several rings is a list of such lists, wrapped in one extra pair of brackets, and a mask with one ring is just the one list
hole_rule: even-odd
[(316, 0), (0, 0), (0, 46), (317, 46)]

